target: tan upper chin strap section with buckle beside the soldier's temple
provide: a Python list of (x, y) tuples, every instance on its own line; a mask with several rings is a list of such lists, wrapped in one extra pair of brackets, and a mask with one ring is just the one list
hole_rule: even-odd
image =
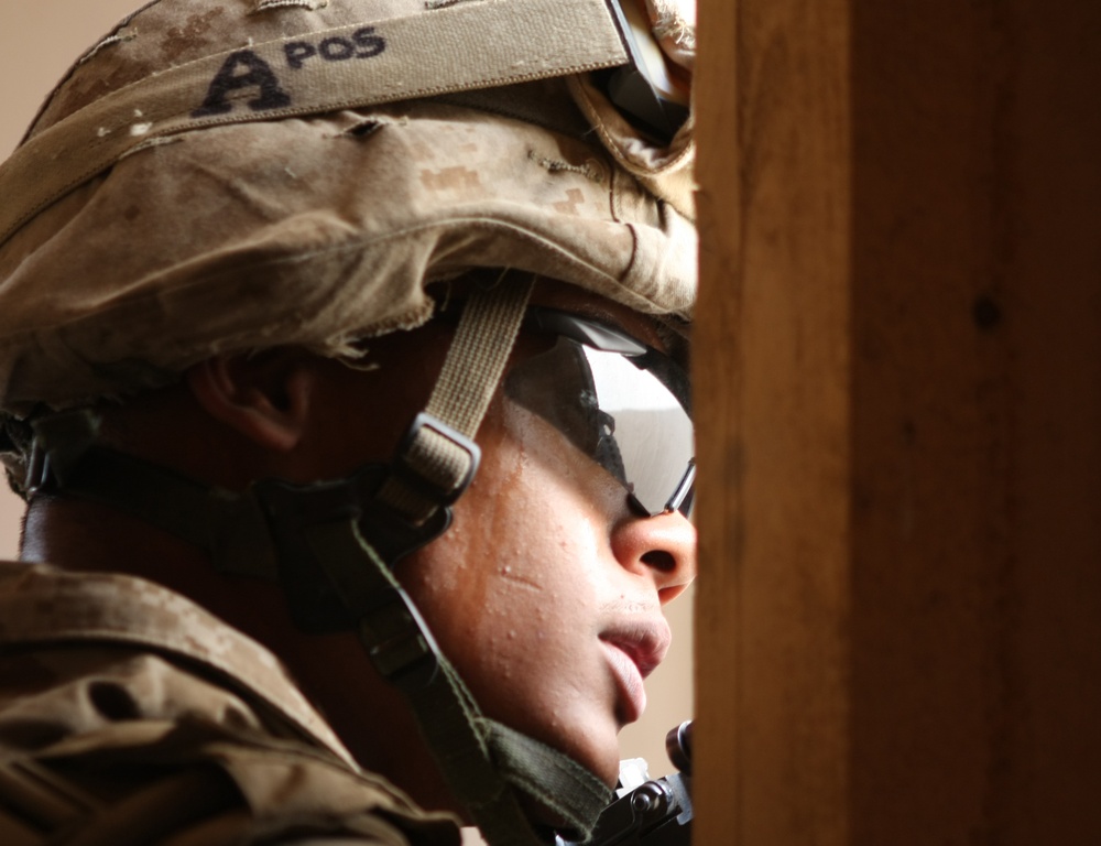
[(473, 437), (512, 354), (533, 285), (533, 279), (510, 280), (467, 300), (425, 411), (379, 492), (411, 522), (422, 523), (440, 505), (454, 502), (473, 477), (480, 457)]

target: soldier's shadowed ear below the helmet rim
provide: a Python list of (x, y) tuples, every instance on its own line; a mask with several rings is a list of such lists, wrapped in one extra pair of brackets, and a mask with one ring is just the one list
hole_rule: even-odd
[(210, 416), (260, 446), (293, 449), (305, 432), (316, 371), (288, 348), (215, 356), (192, 367), (187, 386)]

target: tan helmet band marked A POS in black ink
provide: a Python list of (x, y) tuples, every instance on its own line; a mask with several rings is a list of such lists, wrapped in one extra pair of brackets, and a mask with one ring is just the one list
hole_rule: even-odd
[[(547, 26), (552, 20), (556, 25)], [(33, 134), (0, 165), (0, 245), (124, 156), (183, 132), (626, 62), (604, 0), (484, 0), (297, 33), (167, 67)]]

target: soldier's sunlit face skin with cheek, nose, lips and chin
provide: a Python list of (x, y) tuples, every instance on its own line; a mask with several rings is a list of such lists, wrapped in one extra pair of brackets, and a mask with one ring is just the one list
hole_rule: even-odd
[[(657, 343), (629, 310), (543, 299), (599, 303), (596, 316)], [(478, 442), (482, 465), (453, 528), (400, 578), (489, 716), (611, 783), (617, 734), (640, 716), (643, 677), (668, 646), (662, 605), (695, 574), (695, 530), (677, 512), (637, 517), (608, 471), (500, 392)]]

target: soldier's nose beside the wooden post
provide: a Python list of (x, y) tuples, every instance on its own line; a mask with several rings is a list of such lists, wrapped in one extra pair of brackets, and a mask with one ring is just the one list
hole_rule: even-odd
[(696, 578), (696, 527), (679, 511), (628, 517), (613, 527), (611, 540), (624, 570), (654, 579), (662, 605)]

